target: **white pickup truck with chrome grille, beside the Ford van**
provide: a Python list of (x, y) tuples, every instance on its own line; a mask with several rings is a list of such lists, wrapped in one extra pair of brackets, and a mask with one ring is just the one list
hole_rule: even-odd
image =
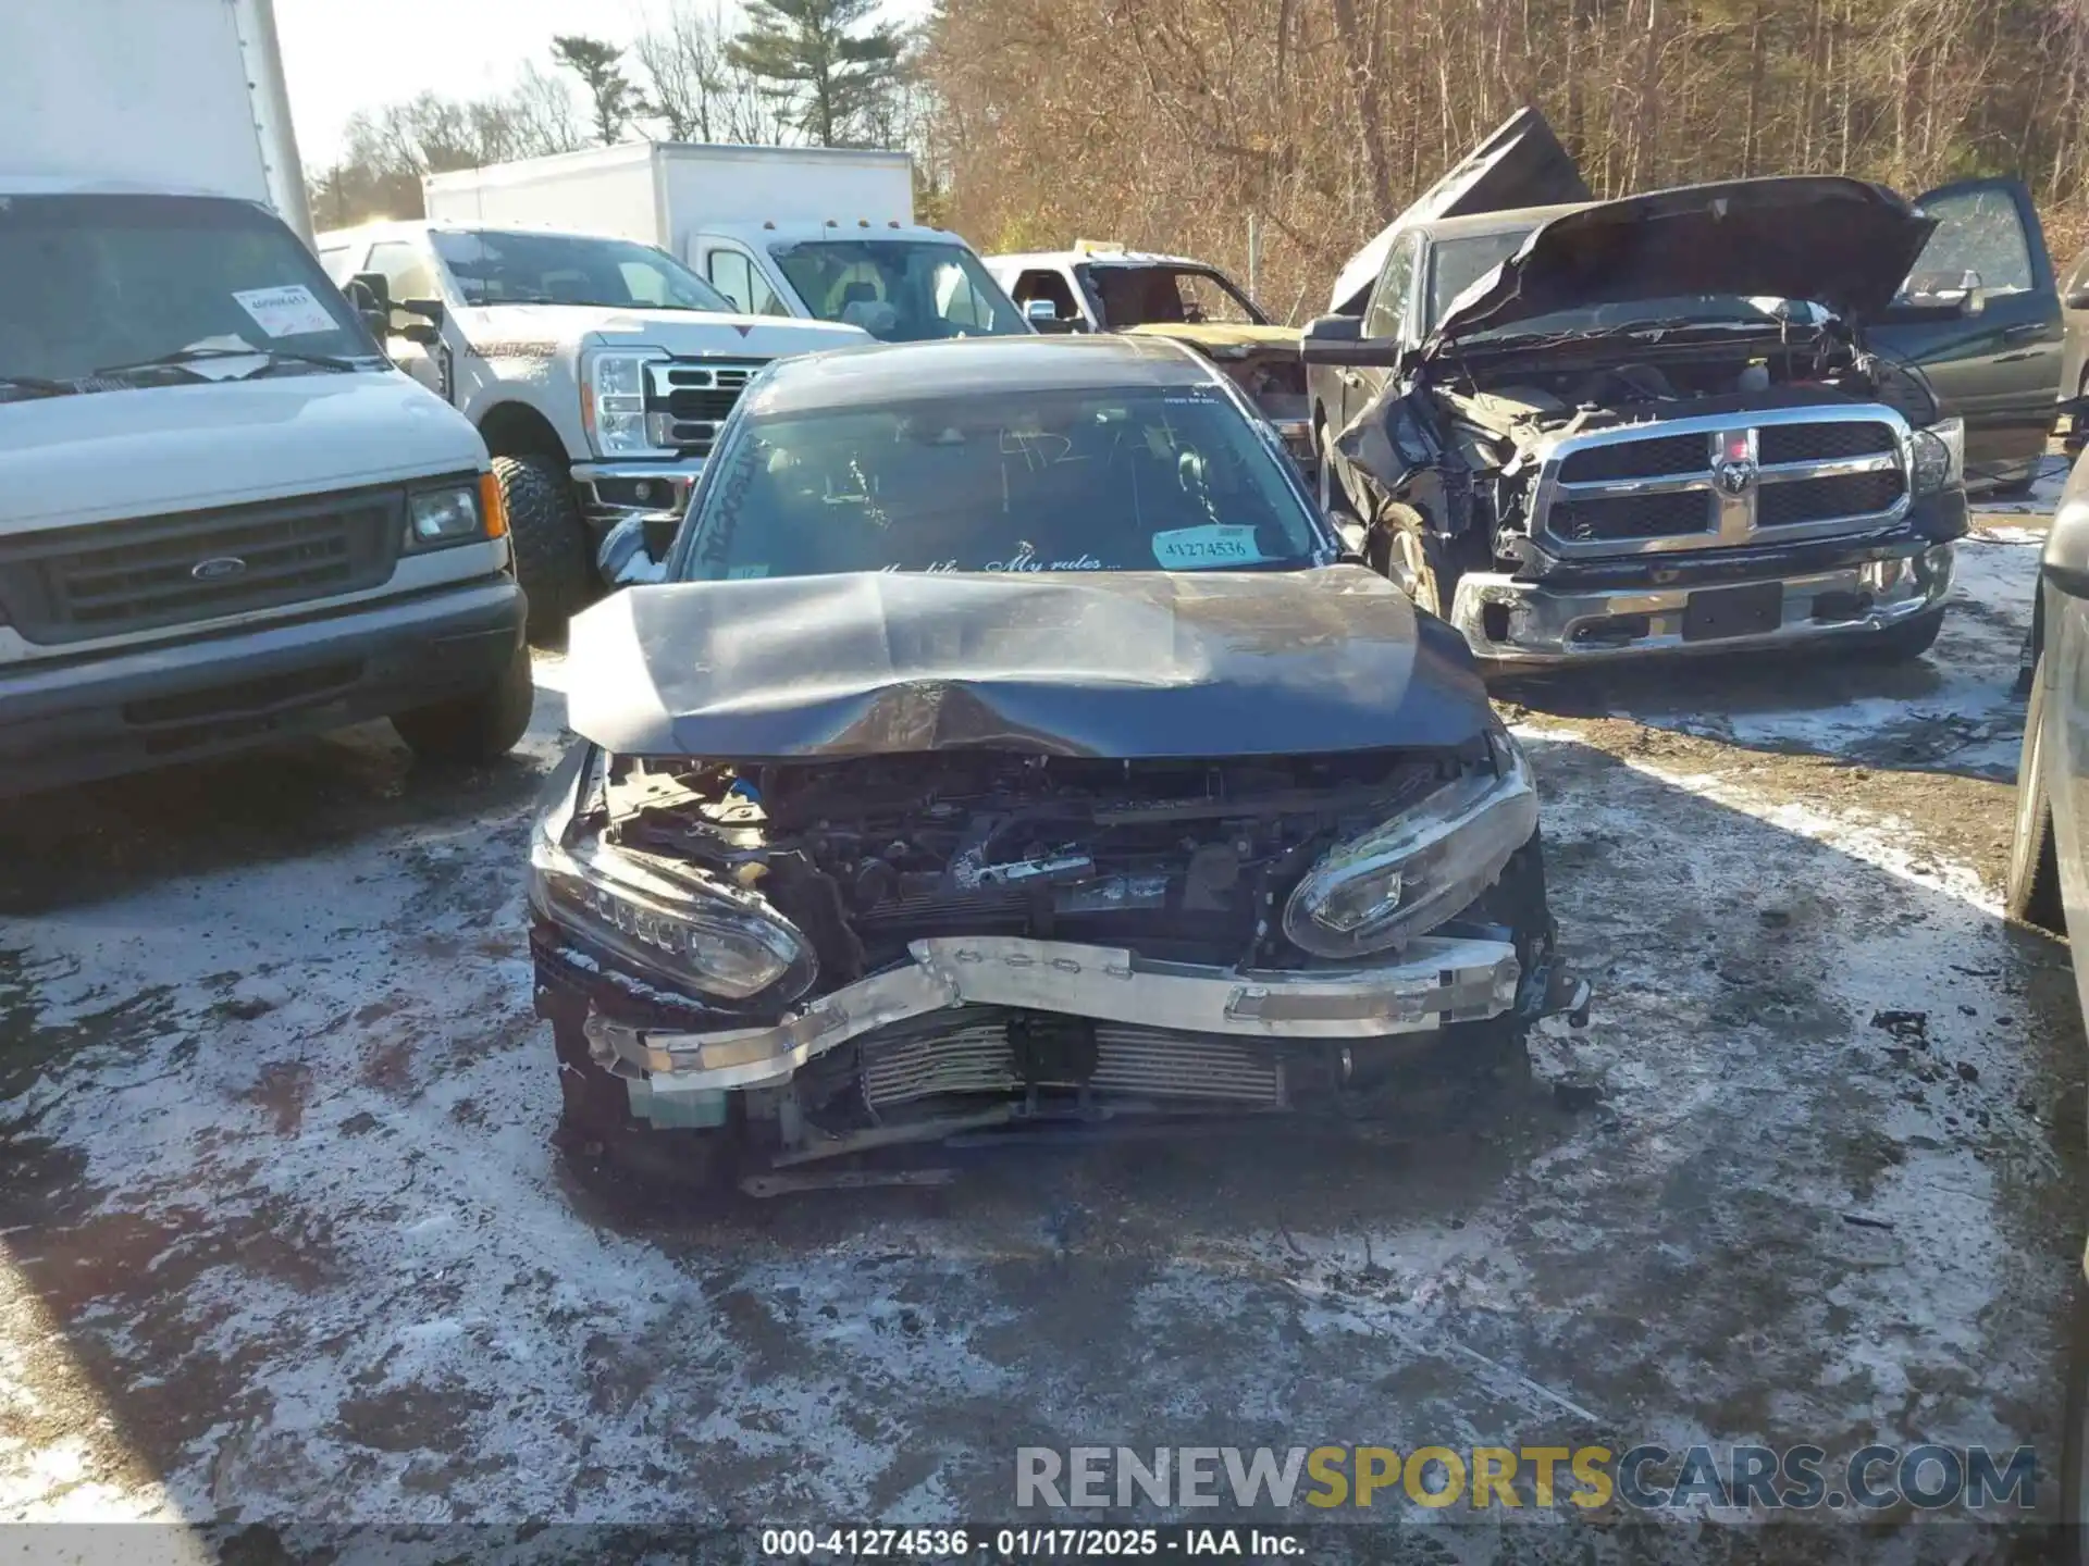
[(393, 359), (485, 436), (537, 641), (595, 595), (616, 522), (683, 507), (765, 363), (869, 340), (740, 315), (671, 255), (595, 234), (374, 223), (322, 234), (320, 261), (378, 296)]

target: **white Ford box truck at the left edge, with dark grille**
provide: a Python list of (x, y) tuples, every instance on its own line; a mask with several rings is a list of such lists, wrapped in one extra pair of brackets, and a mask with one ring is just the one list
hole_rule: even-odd
[(305, 228), (267, 0), (0, 6), (0, 793), (376, 716), (520, 739), (485, 443)]

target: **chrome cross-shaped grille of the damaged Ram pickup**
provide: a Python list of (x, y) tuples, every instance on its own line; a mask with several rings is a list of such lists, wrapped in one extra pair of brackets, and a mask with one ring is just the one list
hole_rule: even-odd
[(1732, 549), (1891, 528), (1909, 428), (1891, 407), (1788, 407), (1563, 434), (1533, 532), (1567, 560)]

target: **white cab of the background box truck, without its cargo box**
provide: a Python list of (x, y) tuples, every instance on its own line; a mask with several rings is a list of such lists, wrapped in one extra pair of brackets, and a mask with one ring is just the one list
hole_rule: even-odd
[(748, 315), (846, 322), (879, 342), (1032, 330), (971, 246), (938, 228), (712, 223), (689, 236), (689, 265)]

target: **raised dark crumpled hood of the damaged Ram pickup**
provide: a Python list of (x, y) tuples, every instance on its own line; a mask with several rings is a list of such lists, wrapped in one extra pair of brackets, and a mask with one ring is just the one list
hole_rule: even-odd
[(1937, 228), (1863, 180), (1790, 175), (1657, 190), (1554, 217), (1437, 322), (1439, 345), (1558, 309), (1740, 294), (1838, 315), (1893, 303)]

